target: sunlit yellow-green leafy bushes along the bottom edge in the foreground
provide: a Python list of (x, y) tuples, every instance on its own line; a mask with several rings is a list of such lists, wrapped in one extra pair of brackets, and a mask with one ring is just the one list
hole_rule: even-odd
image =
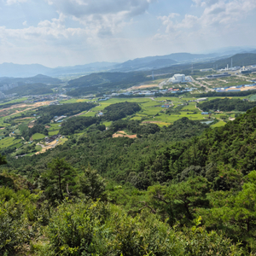
[(216, 232), (200, 227), (177, 232), (143, 211), (131, 218), (102, 202), (65, 202), (46, 230), (49, 247), (42, 255), (242, 255), (241, 249)]

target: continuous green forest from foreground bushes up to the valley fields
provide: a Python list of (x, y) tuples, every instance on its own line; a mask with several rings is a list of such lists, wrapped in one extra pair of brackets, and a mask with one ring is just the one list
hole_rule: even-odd
[(1, 157), (0, 253), (256, 253), (256, 108), (214, 129), (187, 118), (68, 122), (84, 135), (64, 125), (67, 143)]

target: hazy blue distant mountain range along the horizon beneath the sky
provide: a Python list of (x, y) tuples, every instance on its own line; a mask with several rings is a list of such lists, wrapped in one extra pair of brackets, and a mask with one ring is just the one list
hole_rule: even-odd
[(27, 78), (38, 74), (44, 74), (51, 77), (61, 77), (65, 75), (83, 75), (97, 72), (131, 72), (152, 70), (162, 67), (170, 67), (177, 64), (185, 64), (190, 62), (201, 61), (218, 61), (228, 58), (237, 53), (256, 53), (256, 49), (248, 48), (230, 48), (219, 50), (219, 53), (211, 54), (190, 54), (190, 53), (174, 53), (171, 55), (148, 56), (125, 61), (123, 63), (116, 62), (95, 62), (85, 65), (77, 65), (73, 67), (44, 67), (40, 64), (20, 65), (14, 63), (0, 64), (0, 78), (15, 77)]

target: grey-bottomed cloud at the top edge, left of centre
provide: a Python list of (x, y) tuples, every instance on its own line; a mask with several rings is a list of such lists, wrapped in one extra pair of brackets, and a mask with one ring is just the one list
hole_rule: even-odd
[(146, 13), (156, 0), (46, 0), (64, 15), (85, 26), (93, 36), (106, 37), (122, 31), (137, 15)]

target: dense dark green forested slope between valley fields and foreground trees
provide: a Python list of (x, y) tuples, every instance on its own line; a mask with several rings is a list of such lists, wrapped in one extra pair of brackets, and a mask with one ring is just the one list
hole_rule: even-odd
[[(126, 180), (131, 172), (135, 172), (137, 179), (133, 179), (134, 184), (143, 189), (157, 181), (177, 179), (189, 166), (201, 166), (206, 175), (209, 166), (229, 165), (245, 175), (256, 169), (255, 118), (256, 108), (253, 108), (224, 127), (207, 129), (200, 137), (195, 135), (207, 126), (186, 118), (151, 135), (150, 131), (145, 131), (139, 139), (112, 138), (116, 130), (110, 127), (109, 131), (97, 130), (78, 140), (74, 138), (50, 153), (9, 160), (9, 166), (26, 172), (26, 166), (31, 165), (33, 172), (42, 172), (37, 166), (44, 165), (45, 159), (66, 157), (74, 166), (90, 163), (102, 175), (117, 182)], [(127, 125), (129, 123), (119, 127), (127, 129)], [(212, 175), (214, 180), (218, 172)]]

